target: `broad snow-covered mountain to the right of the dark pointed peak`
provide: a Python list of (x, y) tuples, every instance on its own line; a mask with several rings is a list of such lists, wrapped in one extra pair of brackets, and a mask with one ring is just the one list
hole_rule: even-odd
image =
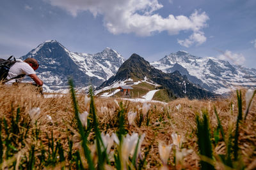
[(150, 64), (164, 73), (177, 70), (189, 81), (216, 94), (224, 94), (239, 86), (256, 87), (256, 69), (234, 66), (214, 57), (196, 57), (179, 51)]

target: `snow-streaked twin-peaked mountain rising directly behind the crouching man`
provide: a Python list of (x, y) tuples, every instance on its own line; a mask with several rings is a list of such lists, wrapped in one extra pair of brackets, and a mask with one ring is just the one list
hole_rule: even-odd
[(56, 40), (45, 41), (21, 59), (28, 57), (38, 60), (36, 72), (47, 92), (67, 89), (69, 76), (76, 87), (98, 86), (113, 76), (125, 60), (111, 48), (95, 54), (70, 52)]

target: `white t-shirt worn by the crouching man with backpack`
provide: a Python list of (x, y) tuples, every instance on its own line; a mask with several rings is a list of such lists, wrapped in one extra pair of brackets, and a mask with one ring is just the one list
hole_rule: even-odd
[[(10, 78), (13, 78), (15, 76), (19, 76), (20, 74), (30, 75), (30, 74), (36, 74), (36, 73), (35, 73), (34, 69), (31, 66), (29, 66), (28, 63), (23, 62), (22, 60), (17, 60), (17, 62), (15, 62), (15, 64), (13, 64), (10, 67), (10, 70), (9, 70), (8, 75), (7, 75), (6, 78), (10, 79)], [(23, 78), (17, 78), (17, 79), (7, 81), (6, 84), (12, 84), (14, 82), (20, 82), (20, 81), (22, 81)]]

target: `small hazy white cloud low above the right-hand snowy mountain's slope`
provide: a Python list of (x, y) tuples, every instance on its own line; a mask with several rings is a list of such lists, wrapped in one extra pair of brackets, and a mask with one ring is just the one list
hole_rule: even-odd
[(245, 57), (242, 53), (232, 53), (229, 50), (226, 50), (222, 55), (218, 56), (221, 60), (228, 60), (236, 65), (241, 65), (245, 61)]

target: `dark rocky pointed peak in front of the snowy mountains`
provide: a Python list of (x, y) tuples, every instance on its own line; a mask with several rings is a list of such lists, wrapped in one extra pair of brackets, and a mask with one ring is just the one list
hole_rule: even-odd
[(201, 89), (193, 85), (186, 76), (182, 76), (179, 71), (174, 73), (164, 73), (163, 71), (151, 66), (150, 63), (140, 57), (140, 55), (133, 53), (129, 59), (125, 60), (124, 64), (120, 66), (115, 76), (109, 78), (97, 87), (96, 90), (113, 85), (116, 81), (127, 79), (148, 80), (161, 85), (166, 89), (168, 96), (171, 98), (188, 97), (189, 99), (205, 99), (207, 97), (214, 97), (211, 92)]

